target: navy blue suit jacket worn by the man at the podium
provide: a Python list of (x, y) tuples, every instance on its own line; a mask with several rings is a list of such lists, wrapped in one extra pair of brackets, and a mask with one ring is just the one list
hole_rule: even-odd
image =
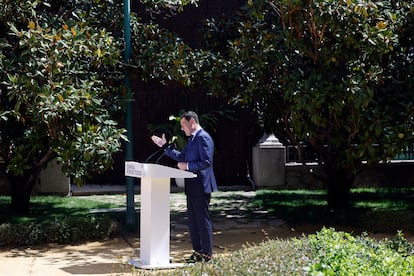
[(188, 141), (182, 151), (166, 148), (165, 154), (178, 162), (188, 162), (188, 170), (197, 174), (195, 178), (185, 179), (187, 195), (201, 195), (217, 191), (213, 171), (214, 142), (211, 136), (200, 129)]

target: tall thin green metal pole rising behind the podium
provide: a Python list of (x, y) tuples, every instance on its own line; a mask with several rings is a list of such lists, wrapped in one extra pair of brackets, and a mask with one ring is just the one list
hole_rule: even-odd
[[(130, 0), (124, 0), (124, 39), (125, 39), (125, 64), (129, 63), (131, 57), (131, 23), (130, 23)], [(132, 129), (132, 102), (129, 100), (132, 97), (131, 93), (131, 77), (129, 74), (129, 69), (125, 69), (125, 89), (127, 96), (127, 106), (126, 106), (126, 120), (125, 127), (127, 130), (127, 137), (129, 143), (126, 143), (125, 146), (125, 160), (132, 161), (133, 156), (133, 129)], [(127, 209), (126, 209), (126, 228), (131, 232), (137, 232), (137, 218), (135, 213), (135, 200), (134, 200), (134, 178), (127, 176), (125, 179), (126, 182), (126, 194), (127, 194)]]

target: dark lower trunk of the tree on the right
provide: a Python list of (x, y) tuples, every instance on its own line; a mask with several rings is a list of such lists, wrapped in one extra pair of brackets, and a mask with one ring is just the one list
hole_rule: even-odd
[(354, 180), (352, 172), (329, 169), (328, 176), (328, 207), (331, 209), (345, 209), (349, 207), (349, 194)]

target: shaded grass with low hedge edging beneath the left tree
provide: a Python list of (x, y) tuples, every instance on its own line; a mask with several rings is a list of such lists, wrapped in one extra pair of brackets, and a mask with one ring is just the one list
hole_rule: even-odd
[(30, 212), (16, 215), (10, 212), (10, 198), (0, 197), (0, 245), (73, 244), (106, 238), (112, 235), (116, 219), (90, 210), (113, 206), (75, 197), (35, 196)]

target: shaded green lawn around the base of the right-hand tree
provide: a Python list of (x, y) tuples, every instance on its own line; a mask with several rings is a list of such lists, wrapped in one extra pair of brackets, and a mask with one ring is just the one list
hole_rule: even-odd
[(258, 191), (253, 205), (290, 224), (358, 227), (364, 231), (414, 232), (414, 189), (353, 189), (350, 206), (331, 210), (325, 191)]

